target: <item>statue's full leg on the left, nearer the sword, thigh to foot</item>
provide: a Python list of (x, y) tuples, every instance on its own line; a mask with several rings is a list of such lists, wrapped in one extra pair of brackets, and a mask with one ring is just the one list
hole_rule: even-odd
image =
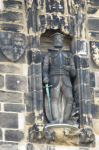
[(52, 106), (52, 120), (58, 122), (59, 121), (59, 108), (58, 108), (58, 100), (59, 100), (60, 86), (58, 85), (55, 88), (50, 89), (50, 97), (51, 97), (51, 106)]

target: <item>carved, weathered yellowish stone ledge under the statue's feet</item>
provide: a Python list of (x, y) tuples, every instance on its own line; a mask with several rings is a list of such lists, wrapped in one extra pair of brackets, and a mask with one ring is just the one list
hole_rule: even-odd
[(79, 129), (71, 124), (34, 124), (30, 128), (30, 142), (38, 144), (94, 147), (95, 136), (91, 127)]

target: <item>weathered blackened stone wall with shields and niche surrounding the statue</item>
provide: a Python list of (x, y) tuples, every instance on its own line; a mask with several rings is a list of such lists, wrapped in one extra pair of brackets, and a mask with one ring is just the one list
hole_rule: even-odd
[[(79, 142), (44, 130), (42, 60), (56, 32), (75, 62)], [(98, 126), (99, 0), (0, 0), (0, 150), (98, 150)]]

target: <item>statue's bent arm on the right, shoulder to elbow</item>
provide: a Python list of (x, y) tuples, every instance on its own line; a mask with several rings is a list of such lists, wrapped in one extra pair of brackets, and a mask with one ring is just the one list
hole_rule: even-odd
[(71, 77), (74, 77), (76, 75), (76, 69), (75, 69), (74, 58), (72, 54), (70, 54), (69, 57), (69, 65), (70, 65), (69, 74)]

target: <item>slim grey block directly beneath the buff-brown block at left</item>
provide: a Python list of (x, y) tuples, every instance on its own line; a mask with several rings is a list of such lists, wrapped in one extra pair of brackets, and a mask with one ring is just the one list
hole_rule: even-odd
[(23, 112), (25, 105), (23, 104), (4, 104), (4, 111)]

